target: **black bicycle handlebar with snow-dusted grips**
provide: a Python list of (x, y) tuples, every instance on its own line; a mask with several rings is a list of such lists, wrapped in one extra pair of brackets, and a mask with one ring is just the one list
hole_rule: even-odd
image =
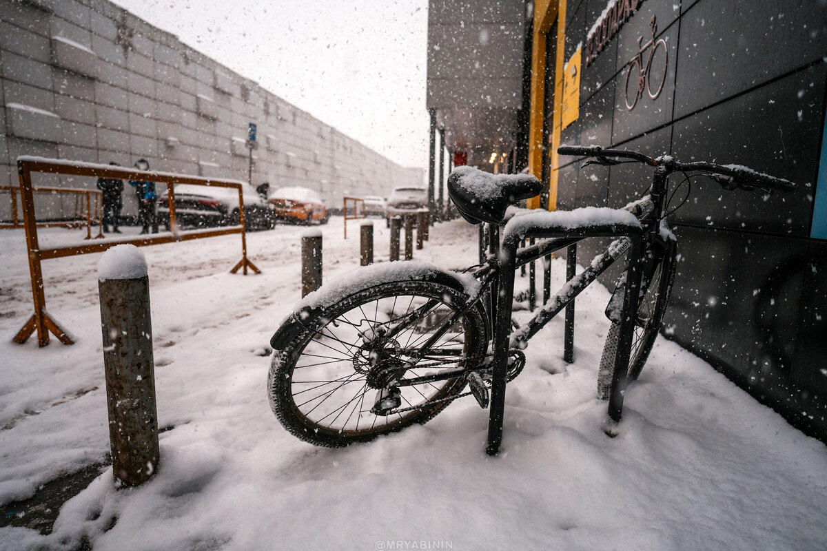
[(648, 155), (631, 150), (613, 150), (602, 148), (599, 145), (561, 145), (557, 153), (562, 155), (575, 155), (580, 157), (594, 157), (600, 164), (614, 164), (609, 157), (621, 159), (633, 159), (649, 166), (664, 169), (667, 173), (700, 171), (707, 173), (710, 178), (721, 184), (724, 189), (747, 189), (759, 188), (763, 191), (793, 192), (798, 188), (784, 178), (775, 178), (769, 174), (759, 173), (753, 169), (737, 164), (715, 164), (705, 161), (692, 163), (679, 163), (669, 155), (663, 155), (653, 159)]

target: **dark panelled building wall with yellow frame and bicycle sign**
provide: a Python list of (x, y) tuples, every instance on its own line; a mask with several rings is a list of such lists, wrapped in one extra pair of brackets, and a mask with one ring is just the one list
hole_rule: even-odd
[[(827, 4), (530, 6), (524, 146), (547, 190), (543, 207), (623, 207), (651, 177), (637, 164), (582, 168), (560, 158), (558, 145), (743, 164), (801, 184), (772, 196), (727, 192), (705, 178), (681, 187), (672, 205), (688, 195), (670, 216), (681, 241), (665, 332), (827, 440)], [(512, 132), (524, 130), (518, 117)], [(595, 250), (578, 252), (586, 261)]]

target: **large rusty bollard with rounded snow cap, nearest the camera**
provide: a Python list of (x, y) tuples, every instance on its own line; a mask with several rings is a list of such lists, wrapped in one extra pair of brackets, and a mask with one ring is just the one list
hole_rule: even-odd
[(157, 471), (160, 451), (149, 278), (135, 245), (103, 253), (98, 292), (112, 473), (118, 487), (137, 486)]

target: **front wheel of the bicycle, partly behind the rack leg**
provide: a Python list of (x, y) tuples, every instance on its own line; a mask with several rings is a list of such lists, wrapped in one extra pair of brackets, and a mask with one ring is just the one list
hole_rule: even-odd
[[(636, 381), (643, 370), (643, 365), (652, 352), (652, 347), (661, 329), (663, 314), (666, 312), (672, 282), (675, 280), (676, 263), (667, 254), (655, 267), (646, 292), (638, 302), (638, 316), (634, 324), (632, 349), (629, 352), (629, 371), (627, 382)], [(620, 324), (612, 322), (609, 334), (600, 354), (600, 369), (597, 372), (597, 397), (608, 400), (612, 388), (614, 359), (617, 356)]]

